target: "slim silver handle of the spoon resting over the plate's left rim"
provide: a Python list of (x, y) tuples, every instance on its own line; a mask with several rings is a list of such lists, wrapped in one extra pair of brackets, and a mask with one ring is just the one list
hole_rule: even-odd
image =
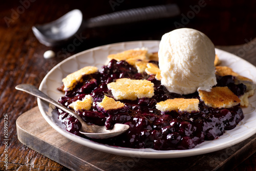
[[(20, 90), (20, 91), (24, 91), (24, 92), (29, 93), (33, 96), (36, 96), (36, 97), (38, 97), (38, 98), (40, 98), (44, 101), (47, 101), (47, 102), (55, 105), (56, 107), (58, 107), (62, 111), (68, 112), (69, 114), (74, 116), (77, 120), (79, 120), (79, 122), (81, 122), (81, 123), (84, 122), (78, 114), (74, 113), (73, 111), (66, 108), (65, 106), (59, 104), (58, 102), (56, 102), (55, 100), (53, 100), (52, 98), (50, 98), (45, 93), (41, 92), (40, 90), (38, 90), (35, 86), (33, 86), (31, 84), (19, 84), (18, 86), (15, 87), (15, 89)], [(86, 122), (84, 122), (84, 124), (86, 124)]]

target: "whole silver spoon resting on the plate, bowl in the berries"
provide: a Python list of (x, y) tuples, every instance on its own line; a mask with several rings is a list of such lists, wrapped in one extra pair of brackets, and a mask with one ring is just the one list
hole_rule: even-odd
[(19, 84), (15, 87), (15, 89), (24, 91), (26, 93), (29, 93), (33, 96), (36, 96), (44, 101), (47, 101), (55, 106), (57, 106), (62, 111), (65, 111), (69, 113), (70, 115), (74, 116), (79, 122), (81, 123), (81, 130), (80, 133), (94, 139), (105, 139), (110, 137), (115, 137), (117, 135), (120, 135), (127, 131), (129, 129), (129, 125), (116, 123), (112, 130), (106, 130), (105, 126), (98, 126), (98, 125), (89, 125), (86, 122), (82, 120), (82, 118), (76, 114), (75, 112), (71, 111), (70, 109), (66, 108), (65, 106), (59, 104), (46, 94), (42, 93), (40, 90), (38, 90), (35, 86), (32, 86), (31, 84)]

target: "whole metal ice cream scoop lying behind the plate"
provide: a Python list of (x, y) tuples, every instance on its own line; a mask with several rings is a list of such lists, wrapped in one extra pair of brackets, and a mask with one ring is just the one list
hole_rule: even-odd
[(85, 28), (140, 22), (148, 19), (173, 17), (179, 14), (179, 7), (175, 4), (169, 4), (123, 10), (83, 21), (82, 12), (75, 9), (51, 23), (33, 26), (32, 31), (41, 44), (58, 46), (69, 41)]

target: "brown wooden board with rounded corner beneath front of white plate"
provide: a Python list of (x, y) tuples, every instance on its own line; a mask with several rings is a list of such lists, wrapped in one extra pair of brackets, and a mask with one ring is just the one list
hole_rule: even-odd
[(175, 159), (125, 157), (80, 145), (56, 132), (35, 107), (16, 120), (20, 142), (72, 170), (230, 170), (256, 152), (256, 134), (220, 151)]

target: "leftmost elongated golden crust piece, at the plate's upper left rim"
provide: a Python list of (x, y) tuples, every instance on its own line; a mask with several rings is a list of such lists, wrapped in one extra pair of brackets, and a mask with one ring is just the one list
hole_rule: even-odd
[(64, 91), (73, 90), (77, 82), (82, 81), (83, 75), (89, 75), (98, 72), (97, 67), (84, 67), (76, 72), (69, 74), (66, 78), (62, 79)]

